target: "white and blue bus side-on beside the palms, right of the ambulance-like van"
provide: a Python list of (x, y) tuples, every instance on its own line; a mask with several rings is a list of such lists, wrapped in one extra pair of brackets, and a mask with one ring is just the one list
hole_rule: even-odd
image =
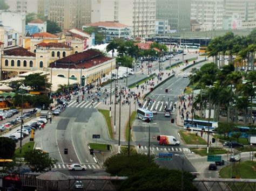
[(208, 131), (208, 126), (209, 126), (209, 131), (212, 132), (214, 131), (215, 128), (218, 128), (218, 122), (210, 121), (210, 123), (208, 123), (208, 121), (193, 119), (193, 126), (192, 126), (192, 119), (184, 120), (184, 129), (187, 129), (187, 130), (193, 129), (195, 131)]

